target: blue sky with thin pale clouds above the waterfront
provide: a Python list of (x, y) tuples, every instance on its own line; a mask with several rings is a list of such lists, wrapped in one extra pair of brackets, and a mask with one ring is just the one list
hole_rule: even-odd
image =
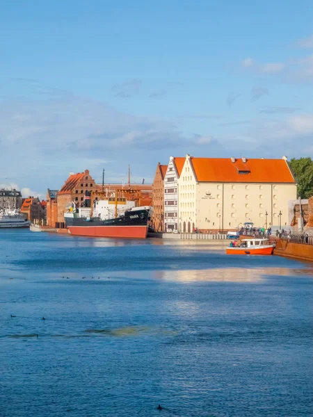
[(0, 185), (313, 156), (310, 1), (16, 0), (0, 24)]

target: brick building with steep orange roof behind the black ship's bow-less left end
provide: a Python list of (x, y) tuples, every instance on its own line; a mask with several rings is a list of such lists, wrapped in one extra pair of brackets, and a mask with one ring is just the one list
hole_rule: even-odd
[(70, 177), (68, 177), (61, 190), (57, 193), (58, 216), (56, 227), (65, 227), (64, 213), (70, 202), (83, 206), (86, 202), (86, 197), (90, 197), (91, 191), (95, 190), (95, 188), (97, 188), (97, 185), (95, 180), (90, 177), (88, 170), (77, 174), (71, 172)]

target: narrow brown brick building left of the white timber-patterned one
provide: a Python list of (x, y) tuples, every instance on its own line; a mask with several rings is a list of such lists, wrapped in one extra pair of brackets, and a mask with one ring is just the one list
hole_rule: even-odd
[(164, 177), (168, 165), (158, 163), (152, 184), (152, 206), (154, 213), (152, 225), (154, 231), (164, 231)]

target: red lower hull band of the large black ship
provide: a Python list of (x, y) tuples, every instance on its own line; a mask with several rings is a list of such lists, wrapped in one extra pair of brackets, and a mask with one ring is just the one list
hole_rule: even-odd
[(69, 226), (70, 234), (96, 238), (137, 238), (147, 237), (147, 226)]

